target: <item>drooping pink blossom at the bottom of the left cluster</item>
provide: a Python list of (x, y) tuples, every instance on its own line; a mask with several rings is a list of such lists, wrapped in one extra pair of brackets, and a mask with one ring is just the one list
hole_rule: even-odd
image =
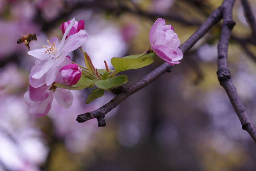
[(73, 102), (73, 95), (70, 90), (46, 86), (34, 88), (29, 86), (24, 95), (25, 102), (30, 106), (29, 112), (35, 116), (45, 116), (52, 107), (53, 98), (64, 108), (69, 108)]

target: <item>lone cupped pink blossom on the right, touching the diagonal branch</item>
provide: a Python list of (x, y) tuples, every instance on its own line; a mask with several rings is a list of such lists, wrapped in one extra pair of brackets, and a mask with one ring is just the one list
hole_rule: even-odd
[(180, 64), (183, 53), (179, 49), (181, 44), (171, 25), (165, 25), (165, 20), (158, 18), (150, 29), (150, 47), (163, 61), (170, 65)]

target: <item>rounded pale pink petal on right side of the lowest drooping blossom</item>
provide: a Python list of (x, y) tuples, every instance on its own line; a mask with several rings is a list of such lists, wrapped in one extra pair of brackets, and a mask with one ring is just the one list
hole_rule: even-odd
[(54, 92), (54, 97), (57, 100), (58, 104), (64, 108), (69, 108), (73, 102), (73, 95), (70, 90), (56, 88)]

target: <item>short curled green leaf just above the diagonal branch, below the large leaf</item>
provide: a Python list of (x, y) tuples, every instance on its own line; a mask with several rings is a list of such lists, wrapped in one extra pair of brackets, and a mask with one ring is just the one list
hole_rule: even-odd
[(95, 85), (104, 90), (111, 90), (115, 87), (127, 83), (127, 81), (128, 77), (126, 75), (118, 75), (106, 80), (98, 80), (95, 82)]

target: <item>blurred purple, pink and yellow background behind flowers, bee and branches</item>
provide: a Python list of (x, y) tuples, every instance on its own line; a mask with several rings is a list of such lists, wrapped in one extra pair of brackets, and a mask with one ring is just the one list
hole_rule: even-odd
[[(249, 0), (256, 14), (256, 2)], [(111, 68), (112, 57), (141, 54), (149, 48), (150, 28), (159, 17), (174, 27), (183, 44), (222, 0), (0, 0), (0, 171), (251, 171), (256, 144), (242, 130), (219, 85), (217, 43), (221, 23), (213, 27), (171, 73), (127, 98), (105, 116), (78, 123), (77, 115), (95, 110), (114, 95), (105, 92), (90, 104), (91, 89), (73, 91), (69, 109), (54, 100), (45, 117), (29, 113), (24, 102), (35, 58), (19, 37), (41, 34), (30, 49), (62, 38), (59, 25), (75, 17), (85, 21), (83, 45), (96, 68)], [(240, 1), (233, 10), (228, 66), (232, 81), (256, 123), (256, 53)], [(239, 41), (237, 41), (239, 39)], [(242, 46), (241, 46), (242, 45)], [(69, 54), (83, 64), (79, 50)], [(141, 79), (163, 61), (122, 72), (124, 86)]]

